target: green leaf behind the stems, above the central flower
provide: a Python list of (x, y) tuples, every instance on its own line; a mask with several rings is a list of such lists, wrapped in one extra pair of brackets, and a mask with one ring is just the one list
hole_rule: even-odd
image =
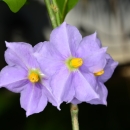
[(78, 3), (78, 1), (79, 0), (56, 0), (62, 22), (64, 21), (67, 13)]

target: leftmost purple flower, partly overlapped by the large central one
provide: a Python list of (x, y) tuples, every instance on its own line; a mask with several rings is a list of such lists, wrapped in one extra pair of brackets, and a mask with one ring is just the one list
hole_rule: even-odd
[(56, 106), (49, 79), (33, 56), (32, 46), (22, 42), (6, 42), (6, 46), (5, 60), (8, 65), (1, 70), (0, 87), (20, 93), (20, 104), (26, 110), (26, 116), (41, 112), (48, 101)]

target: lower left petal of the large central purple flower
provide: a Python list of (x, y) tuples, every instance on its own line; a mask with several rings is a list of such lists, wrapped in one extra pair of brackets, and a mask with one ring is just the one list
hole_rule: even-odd
[(51, 80), (51, 88), (54, 96), (59, 104), (61, 104), (64, 100), (64, 94), (67, 93), (68, 84), (70, 77), (70, 72), (66, 67), (62, 67), (59, 71), (52, 76)]

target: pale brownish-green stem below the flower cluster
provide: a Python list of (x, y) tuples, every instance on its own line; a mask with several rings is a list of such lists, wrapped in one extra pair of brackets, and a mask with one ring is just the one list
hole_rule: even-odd
[(78, 123), (78, 106), (71, 104), (71, 120), (72, 120), (72, 128), (73, 130), (79, 130), (79, 123)]

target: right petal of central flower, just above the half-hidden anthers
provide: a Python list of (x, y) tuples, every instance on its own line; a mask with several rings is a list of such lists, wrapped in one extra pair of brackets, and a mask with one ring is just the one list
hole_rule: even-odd
[(102, 48), (96, 51), (93, 55), (87, 57), (84, 60), (84, 66), (86, 66), (90, 72), (96, 73), (104, 69), (106, 65), (106, 48)]

